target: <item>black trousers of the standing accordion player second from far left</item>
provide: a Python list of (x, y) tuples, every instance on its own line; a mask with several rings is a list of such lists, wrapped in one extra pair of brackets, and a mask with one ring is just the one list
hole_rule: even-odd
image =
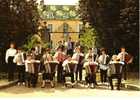
[(18, 81), (25, 82), (25, 65), (17, 65)]

